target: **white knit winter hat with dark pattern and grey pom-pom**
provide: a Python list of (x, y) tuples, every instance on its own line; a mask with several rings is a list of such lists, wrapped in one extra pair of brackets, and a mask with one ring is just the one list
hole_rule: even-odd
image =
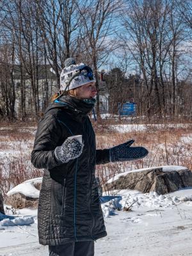
[(60, 75), (61, 91), (68, 91), (90, 82), (95, 82), (92, 68), (84, 63), (76, 65), (73, 58), (65, 60), (65, 68), (63, 68)]

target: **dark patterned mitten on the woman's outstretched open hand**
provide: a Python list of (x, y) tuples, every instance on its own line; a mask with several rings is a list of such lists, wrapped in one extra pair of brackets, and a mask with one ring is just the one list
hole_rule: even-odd
[(140, 159), (148, 154), (148, 150), (144, 147), (130, 147), (134, 140), (129, 140), (116, 147), (109, 148), (110, 162), (116, 161), (131, 161)]

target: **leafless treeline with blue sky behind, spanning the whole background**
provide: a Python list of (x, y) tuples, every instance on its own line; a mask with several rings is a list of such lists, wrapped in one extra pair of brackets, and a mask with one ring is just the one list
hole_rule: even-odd
[(0, 115), (8, 120), (28, 117), (28, 81), (31, 113), (38, 118), (56, 92), (45, 88), (48, 82), (42, 88), (40, 67), (52, 68), (59, 88), (64, 61), (73, 56), (93, 68), (98, 91), (99, 70), (106, 67), (110, 102), (132, 97), (138, 115), (190, 117), (191, 17), (190, 0), (1, 1)]

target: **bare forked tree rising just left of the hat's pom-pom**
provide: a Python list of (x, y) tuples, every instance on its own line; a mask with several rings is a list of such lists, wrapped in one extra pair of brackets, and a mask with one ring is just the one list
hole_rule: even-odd
[(47, 60), (56, 72), (58, 88), (65, 58), (74, 55), (72, 41), (76, 40), (78, 17), (76, 0), (36, 1), (38, 25), (46, 47)]

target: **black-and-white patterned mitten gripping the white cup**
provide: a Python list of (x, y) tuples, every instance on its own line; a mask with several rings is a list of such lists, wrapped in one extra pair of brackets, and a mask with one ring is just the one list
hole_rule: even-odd
[(81, 155), (83, 146), (83, 143), (81, 144), (76, 139), (67, 138), (60, 147), (55, 148), (54, 155), (62, 163), (68, 163)]

